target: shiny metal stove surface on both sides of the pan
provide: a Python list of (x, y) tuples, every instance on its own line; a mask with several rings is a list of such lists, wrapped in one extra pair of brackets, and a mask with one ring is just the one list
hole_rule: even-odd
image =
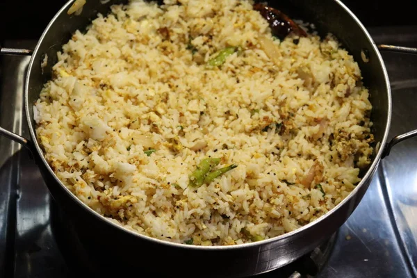
[[(417, 26), (369, 28), (377, 43), (417, 46)], [(33, 47), (9, 41), (4, 47)], [(417, 128), (417, 56), (383, 54), (393, 91), (390, 136)], [(0, 126), (29, 137), (23, 111), (28, 57), (0, 58)], [(73, 277), (54, 204), (26, 149), (0, 137), (0, 277)], [(62, 229), (63, 227), (61, 227)], [(64, 228), (65, 229), (65, 228)], [(417, 277), (417, 140), (384, 158), (356, 211), (336, 234), (315, 277)], [(82, 252), (76, 252), (81, 256)], [(141, 275), (147, 277), (147, 275)], [(151, 276), (151, 275), (149, 275)], [(295, 272), (291, 277), (309, 275)], [(282, 277), (270, 272), (260, 277)]]

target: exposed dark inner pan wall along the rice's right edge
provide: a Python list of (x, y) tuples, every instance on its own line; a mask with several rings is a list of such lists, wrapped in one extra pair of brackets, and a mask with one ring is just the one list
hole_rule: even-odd
[[(367, 31), (356, 22), (350, 13), (343, 8), (340, 1), (280, 1), (279, 4), (270, 1), (272, 6), (279, 8), (292, 18), (300, 18), (304, 22), (313, 22), (322, 38), (332, 33), (343, 44), (359, 64), (363, 84), (369, 89), (370, 102), (373, 105), (370, 120), (373, 122), (372, 133), (375, 136), (373, 147), (382, 144), (389, 130), (391, 118), (391, 90), (386, 74), (385, 65), (375, 43)], [(363, 60), (363, 54), (368, 60)], [(377, 156), (374, 152), (373, 158)], [(361, 172), (361, 177), (367, 171)]]

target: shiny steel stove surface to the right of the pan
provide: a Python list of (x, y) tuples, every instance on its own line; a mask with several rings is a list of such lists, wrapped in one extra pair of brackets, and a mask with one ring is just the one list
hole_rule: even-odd
[[(416, 34), (417, 26), (370, 29), (376, 43), (410, 47), (417, 45)], [(390, 52), (382, 56), (393, 95), (392, 138), (417, 126), (417, 56)], [(357, 211), (341, 227), (334, 253), (318, 277), (417, 277), (416, 157), (414, 138), (382, 160)]]

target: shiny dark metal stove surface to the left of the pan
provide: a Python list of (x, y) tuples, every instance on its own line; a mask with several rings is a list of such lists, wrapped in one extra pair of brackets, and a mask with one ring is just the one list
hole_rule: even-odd
[[(33, 41), (9, 44), (35, 46)], [(21, 110), (29, 57), (2, 56), (0, 61), (0, 125), (29, 137)], [(51, 232), (51, 197), (38, 166), (27, 149), (3, 137), (0, 154), (0, 277), (70, 277)]]

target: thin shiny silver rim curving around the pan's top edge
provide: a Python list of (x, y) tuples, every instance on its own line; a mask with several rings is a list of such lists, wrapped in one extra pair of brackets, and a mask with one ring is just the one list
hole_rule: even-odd
[[(388, 73), (386, 71), (386, 66), (384, 64), (384, 60), (382, 59), (382, 56), (379, 53), (379, 50), (377, 49), (377, 45), (375, 44), (375, 42), (373, 41), (373, 38), (370, 36), (368, 31), (366, 30), (365, 26), (363, 26), (363, 24), (359, 21), (357, 16), (354, 15), (354, 13), (352, 13), (352, 11), (349, 8), (347, 8), (347, 6), (345, 6), (344, 3), (341, 2), (341, 0), (334, 0), (339, 6), (341, 6), (341, 8), (343, 8), (345, 13), (347, 13), (350, 17), (352, 17), (352, 19), (354, 19), (354, 22), (356, 22), (356, 24), (358, 24), (358, 26), (361, 28), (361, 31), (363, 32), (363, 34), (366, 35), (366, 38), (369, 40), (370, 44), (372, 45), (373, 51), (375, 52), (375, 54), (377, 54), (376, 58), (377, 58), (377, 60), (379, 62), (379, 65), (382, 69), (382, 72), (384, 74), (384, 81), (385, 81), (384, 83), (386, 85), (386, 94), (388, 95), (388, 109), (387, 109), (386, 127), (385, 127), (385, 131), (384, 131), (384, 136), (382, 137), (382, 141), (379, 144), (379, 149), (377, 150), (377, 154), (375, 155), (375, 158), (373, 159), (373, 163), (371, 163), (370, 167), (368, 167), (368, 170), (366, 171), (366, 174), (363, 175), (363, 178), (361, 179), (359, 184), (354, 188), (354, 190), (352, 190), (350, 192), (350, 194), (347, 197), (345, 197), (345, 199), (343, 199), (342, 202), (340, 202), (339, 204), (334, 206), (334, 208), (332, 208), (330, 211), (325, 213), (325, 215), (320, 216), (320, 218), (318, 218), (318, 219), (314, 220), (313, 222), (310, 222), (309, 224), (306, 224), (306, 225), (304, 225), (304, 226), (302, 226), (298, 229), (295, 229), (294, 231), (288, 232), (286, 234), (282, 234), (280, 236), (276, 236), (274, 238), (268, 238), (268, 239), (261, 240), (261, 241), (258, 241), (258, 242), (254, 242), (254, 243), (243, 243), (243, 244), (240, 244), (240, 245), (201, 246), (201, 245), (186, 245), (186, 244), (183, 244), (183, 243), (172, 243), (172, 242), (167, 241), (167, 240), (161, 240), (161, 239), (158, 239), (158, 238), (152, 238), (151, 236), (146, 236), (146, 235), (143, 235), (143, 234), (139, 234), (138, 232), (131, 231), (129, 229), (126, 229), (125, 227), (122, 227), (120, 224), (115, 224), (111, 220), (108, 220), (108, 218), (105, 218), (103, 215), (100, 215), (99, 213), (94, 211), (92, 208), (90, 208), (87, 204), (84, 204), (81, 201), (81, 199), (79, 199), (73, 193), (71, 193), (71, 191), (67, 187), (64, 186), (64, 184), (60, 181), (60, 179), (58, 179), (58, 177), (56, 176), (56, 174), (52, 170), (51, 166), (49, 165), (49, 163), (44, 158), (42, 148), (40, 147), (40, 145), (38, 143), (38, 139), (37, 139), (36, 134), (35, 134), (35, 129), (34, 129), (35, 124), (33, 124), (33, 120), (32, 120), (33, 115), (31, 115), (31, 113), (29, 111), (29, 106), (28, 106), (29, 78), (31, 76), (32, 68), (35, 67), (35, 65), (34, 65), (35, 57), (38, 56), (39, 55), (38, 52), (40, 52), (40, 44), (42, 44), (42, 41), (44, 40), (44, 37), (47, 35), (51, 26), (54, 25), (54, 22), (56, 21), (56, 19), (60, 16), (61, 13), (65, 13), (65, 11), (68, 8), (70, 8), (70, 6), (72, 6), (72, 3), (74, 3), (74, 1), (76, 1), (76, 0), (67, 1), (67, 3), (65, 3), (65, 5), (62, 8), (60, 8), (60, 10), (58, 10), (56, 15), (54, 15), (54, 17), (52, 17), (51, 21), (49, 22), (47, 27), (44, 29), (42, 35), (40, 36), (40, 38), (38, 40), (38, 43), (36, 44), (36, 47), (33, 51), (33, 54), (31, 56), (31, 60), (30, 60), (29, 65), (28, 65), (28, 70), (26, 72), (26, 81), (25, 81), (25, 85), (24, 85), (24, 109), (25, 109), (25, 114), (26, 114), (26, 120), (27, 120), (27, 124), (28, 124), (29, 133), (31, 135), (31, 141), (32, 141), (33, 147), (35, 149), (36, 155), (38, 155), (40, 157), (40, 160), (42, 161), (42, 163), (47, 168), (48, 174), (50, 174), (51, 177), (54, 177), (54, 180), (56, 181), (56, 183), (58, 183), (59, 186), (61, 186), (65, 190), (65, 193), (67, 195), (69, 195), (69, 197), (72, 199), (72, 201), (76, 202), (81, 207), (83, 207), (85, 213), (90, 213), (91, 215), (94, 215), (95, 218), (97, 218), (98, 220), (102, 220), (102, 221), (106, 222), (106, 224), (110, 224), (111, 226), (113, 226), (113, 228), (119, 229), (120, 231), (122, 231), (124, 233), (128, 233), (131, 236), (138, 237), (142, 240), (147, 240), (150, 243), (159, 243), (159, 244), (166, 245), (166, 246), (169, 246), (169, 247), (183, 248), (183, 249), (188, 249), (188, 250), (205, 250), (206, 252), (211, 252), (211, 251), (215, 252), (215, 251), (219, 251), (219, 250), (249, 249), (249, 248), (253, 248), (253, 247), (261, 247), (263, 245), (267, 245), (267, 244), (270, 244), (270, 243), (275, 243), (275, 242), (278, 242), (278, 241), (281, 241), (281, 240), (288, 240), (288, 238), (291, 238), (291, 237), (295, 236), (295, 234), (300, 234), (302, 232), (306, 232), (307, 230), (311, 229), (311, 227), (313, 227), (316, 224), (325, 220), (325, 218), (328, 218), (328, 217), (330, 217), (330, 215), (336, 213), (336, 211), (338, 211), (338, 209), (341, 208), (341, 206), (344, 206), (346, 203), (350, 202), (351, 199), (355, 195), (357, 195), (357, 191), (361, 190), (361, 188), (363, 186), (365, 186), (365, 183), (367, 183), (370, 179), (372, 179), (373, 174), (375, 174), (377, 166), (379, 165), (379, 162), (381, 161), (382, 152), (384, 151), (384, 147), (386, 145), (386, 141), (387, 141), (390, 126), (391, 126), (392, 99), (391, 99), (391, 85), (390, 85), (390, 82), (389, 82), (389, 76), (388, 76)], [(49, 185), (48, 185), (48, 187), (49, 187)]]

